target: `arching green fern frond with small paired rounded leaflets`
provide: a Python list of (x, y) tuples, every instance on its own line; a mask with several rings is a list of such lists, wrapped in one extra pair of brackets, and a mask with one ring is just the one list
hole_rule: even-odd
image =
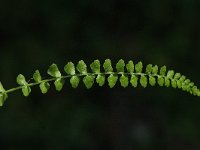
[(90, 70), (83, 60), (80, 60), (75, 66), (74, 63), (68, 62), (64, 66), (66, 75), (62, 75), (58, 66), (52, 64), (47, 70), (49, 78), (43, 79), (39, 70), (36, 70), (33, 74), (34, 82), (28, 83), (24, 75), (19, 74), (17, 76), (16, 88), (5, 90), (0, 82), (0, 105), (2, 106), (5, 100), (8, 98), (8, 94), (22, 90), (24, 96), (29, 96), (31, 93), (31, 87), (39, 85), (39, 88), (43, 94), (47, 93), (50, 84), (54, 82), (55, 89), (57, 91), (62, 90), (65, 79), (69, 78), (69, 82), (73, 88), (77, 88), (80, 81), (83, 81), (87, 89), (92, 88), (96, 82), (99, 86), (103, 86), (106, 82), (110, 88), (113, 88), (117, 81), (121, 86), (126, 88), (129, 84), (133, 87), (141, 85), (142, 87), (159, 86), (179, 88), (183, 91), (187, 91), (195, 96), (200, 96), (200, 90), (189, 79), (180, 73), (175, 73), (174, 70), (167, 70), (166, 66), (158, 67), (157, 65), (148, 64), (143, 66), (142, 62), (136, 64), (133, 61), (129, 61), (125, 64), (124, 60), (120, 59), (115, 67), (112, 66), (111, 60), (106, 59), (102, 67), (99, 60), (94, 60), (90, 64)]

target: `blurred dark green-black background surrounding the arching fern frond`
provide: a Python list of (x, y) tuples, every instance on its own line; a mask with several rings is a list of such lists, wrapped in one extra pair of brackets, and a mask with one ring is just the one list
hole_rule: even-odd
[[(51, 63), (123, 58), (199, 82), (199, 0), (1, 0), (0, 80), (44, 77)], [(63, 72), (63, 71), (62, 71)], [(9, 95), (0, 109), (0, 149), (199, 150), (200, 99), (172, 88), (83, 84)]]

